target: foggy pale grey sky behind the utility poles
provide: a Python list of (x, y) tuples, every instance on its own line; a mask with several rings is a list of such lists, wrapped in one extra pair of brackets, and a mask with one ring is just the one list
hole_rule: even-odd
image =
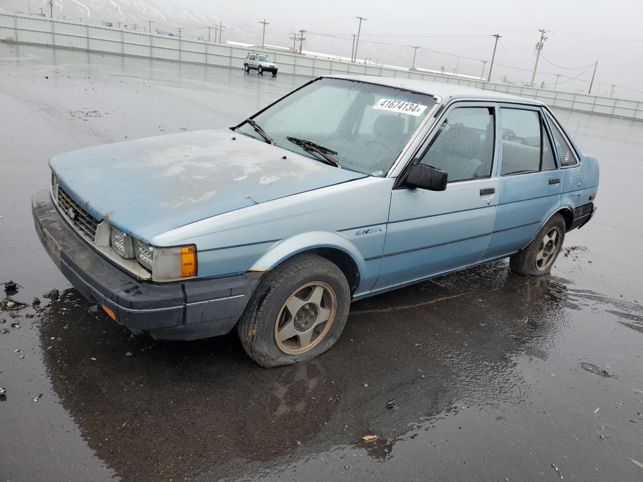
[[(118, 7), (120, 7), (120, 11)], [(46, 0), (31, 0), (32, 12), (46, 10)], [(0, 10), (13, 13), (28, 10), (28, 0), (0, 0)], [(130, 15), (133, 14), (133, 15)], [(496, 53), (492, 80), (513, 84), (529, 82), (534, 67), (534, 46), (539, 28), (548, 30), (536, 75), (536, 85), (547, 82), (552, 89), (555, 74), (561, 74), (557, 90), (587, 93), (592, 69), (574, 77), (598, 60), (592, 93), (610, 94), (611, 84), (617, 84), (614, 95), (620, 98), (643, 99), (643, 3), (616, 0), (607, 2), (579, 0), (541, 0), (523, 3), (509, 0), (494, 2), (411, 0), (406, 2), (352, 2), (325, 0), (301, 2), (294, 0), (263, 0), (213, 2), (209, 0), (60, 0), (55, 1), (54, 16), (82, 18), (96, 24), (101, 21), (138, 19), (141, 27), (146, 20), (154, 21), (156, 29), (176, 31), (181, 26), (184, 37), (207, 37), (208, 31), (196, 28), (223, 22), (223, 40), (261, 42), (261, 25), (266, 18), (266, 43), (292, 46), (289, 37), (295, 30), (309, 31), (304, 49), (350, 57), (351, 40), (323, 37), (326, 33), (351, 38), (357, 33), (356, 15), (366, 17), (362, 24), (359, 58), (369, 57), (379, 62), (410, 67), (413, 49), (420, 46), (416, 67), (439, 70), (442, 66), (453, 72), (480, 76), (483, 64), (471, 57), (491, 60), (494, 38), (502, 39)], [(163, 19), (165, 17), (165, 20)], [(134, 20), (132, 20), (134, 19)], [(146, 24), (147, 25), (147, 24)], [(312, 33), (314, 32), (314, 33)], [(213, 31), (212, 31), (213, 34)], [(471, 37), (439, 37), (466, 36)], [(484, 35), (484, 37), (474, 37)], [(398, 44), (378, 45), (364, 40)], [(505, 52), (506, 49), (506, 52)], [(435, 51), (460, 56), (444, 55)], [(512, 68), (512, 65), (518, 69)], [(568, 67), (564, 69), (561, 67)], [(525, 70), (520, 70), (525, 69)], [(485, 77), (489, 62), (485, 67)], [(567, 82), (565, 82), (567, 81)], [(636, 91), (626, 90), (635, 89)]]

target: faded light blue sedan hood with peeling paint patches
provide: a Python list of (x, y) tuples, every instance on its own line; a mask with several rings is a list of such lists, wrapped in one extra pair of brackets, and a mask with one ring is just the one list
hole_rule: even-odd
[(365, 177), (230, 129), (89, 147), (50, 165), (93, 217), (145, 242), (201, 219)]

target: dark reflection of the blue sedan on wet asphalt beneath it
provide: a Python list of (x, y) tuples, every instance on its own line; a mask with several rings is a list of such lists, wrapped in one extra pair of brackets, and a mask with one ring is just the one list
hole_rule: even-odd
[[(265, 370), (234, 335), (133, 337), (68, 290), (40, 325), (41, 344), (62, 406), (124, 479), (238, 476), (337, 445), (387, 458), (437, 416), (519, 404), (514, 359), (547, 357), (566, 323), (565, 292), (559, 278), (482, 265), (358, 301), (334, 350)], [(367, 434), (379, 438), (364, 443)]]

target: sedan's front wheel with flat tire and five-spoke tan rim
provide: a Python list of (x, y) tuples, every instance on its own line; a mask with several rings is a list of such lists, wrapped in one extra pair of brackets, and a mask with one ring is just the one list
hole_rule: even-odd
[(265, 368), (304, 362), (338, 341), (349, 305), (349, 283), (337, 265), (300, 254), (267, 274), (237, 332), (249, 357)]

